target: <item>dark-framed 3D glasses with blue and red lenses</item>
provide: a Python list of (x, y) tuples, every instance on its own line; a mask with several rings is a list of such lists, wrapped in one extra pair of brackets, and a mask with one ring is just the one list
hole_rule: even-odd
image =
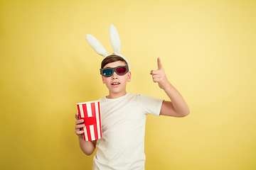
[(100, 74), (103, 77), (111, 77), (114, 72), (116, 72), (119, 76), (127, 74), (127, 72), (129, 72), (128, 65), (114, 67), (114, 68), (103, 68), (103, 69), (100, 69)]

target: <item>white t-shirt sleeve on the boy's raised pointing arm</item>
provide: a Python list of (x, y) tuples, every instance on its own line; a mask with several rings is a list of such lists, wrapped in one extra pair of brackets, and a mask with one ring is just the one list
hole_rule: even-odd
[(161, 106), (164, 100), (159, 98), (154, 98), (151, 96), (144, 96), (142, 94), (137, 94), (142, 108), (146, 114), (160, 115)]

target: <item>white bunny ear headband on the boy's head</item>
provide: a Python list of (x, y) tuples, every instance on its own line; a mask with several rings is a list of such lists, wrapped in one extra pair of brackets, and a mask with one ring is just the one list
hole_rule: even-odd
[[(105, 48), (102, 46), (100, 41), (97, 40), (93, 35), (87, 34), (86, 40), (89, 43), (89, 45), (93, 48), (93, 50), (95, 50), (95, 52), (97, 52), (99, 55), (102, 55), (103, 57), (110, 56), (105, 50)], [(120, 54), (121, 40), (117, 33), (117, 29), (114, 28), (113, 25), (110, 25), (110, 41), (111, 41), (112, 48), (114, 50), (114, 55), (118, 55), (119, 57), (122, 57), (125, 60), (125, 62), (127, 62), (129, 71), (131, 71), (128, 60)]]

